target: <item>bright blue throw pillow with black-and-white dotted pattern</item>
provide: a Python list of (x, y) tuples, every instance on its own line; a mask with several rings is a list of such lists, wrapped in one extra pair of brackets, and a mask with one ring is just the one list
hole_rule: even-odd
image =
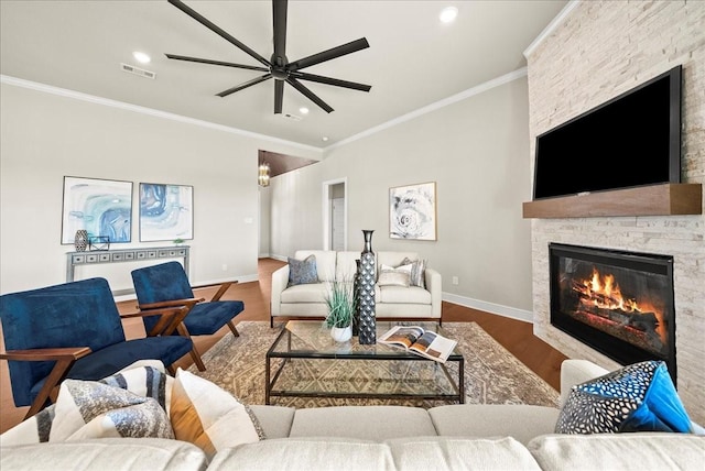
[(644, 361), (577, 384), (561, 409), (556, 434), (691, 432), (665, 363)]

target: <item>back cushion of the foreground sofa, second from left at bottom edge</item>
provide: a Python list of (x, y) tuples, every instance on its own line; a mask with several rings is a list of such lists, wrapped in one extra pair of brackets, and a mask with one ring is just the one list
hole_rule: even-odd
[[(348, 424), (340, 421), (336, 426), (346, 428)], [(218, 452), (208, 465), (208, 471), (394, 469), (391, 451), (384, 443), (330, 437), (274, 439), (238, 446)]]

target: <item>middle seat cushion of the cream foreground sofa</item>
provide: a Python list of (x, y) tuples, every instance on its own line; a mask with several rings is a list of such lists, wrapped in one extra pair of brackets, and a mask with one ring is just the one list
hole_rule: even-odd
[[(376, 424), (369, 427), (369, 424)], [(403, 427), (400, 426), (403, 424)], [(296, 409), (291, 437), (345, 437), (382, 441), (432, 436), (436, 429), (426, 409), (405, 406), (338, 406)]]

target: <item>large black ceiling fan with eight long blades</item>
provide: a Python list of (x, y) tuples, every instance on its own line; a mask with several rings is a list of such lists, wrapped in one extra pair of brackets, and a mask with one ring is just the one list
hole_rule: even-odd
[(260, 84), (262, 81), (269, 80), (270, 78), (274, 78), (274, 113), (280, 114), (282, 112), (282, 102), (284, 98), (284, 83), (291, 85), (296, 90), (299, 90), (302, 95), (308, 98), (311, 101), (323, 108), (326, 112), (333, 111), (333, 108), (328, 106), (325, 101), (323, 101), (319, 97), (317, 97), (313, 91), (306, 88), (300, 80), (310, 80), (316, 81), (325, 85), (333, 85), (336, 87), (345, 87), (354, 90), (360, 91), (370, 91), (372, 88), (369, 85), (357, 84), (355, 81), (339, 80), (337, 78), (324, 77), (321, 75), (308, 74), (305, 72), (301, 72), (301, 69), (311, 67), (312, 65), (321, 64), (326, 61), (330, 61), (347, 54), (351, 54), (358, 52), (360, 50), (365, 50), (369, 47), (369, 43), (365, 37), (361, 37), (357, 41), (352, 41), (347, 44), (343, 44), (337, 47), (333, 47), (327, 51), (323, 51), (321, 53), (300, 58), (299, 61), (289, 62), (286, 58), (286, 0), (272, 0), (272, 9), (273, 9), (273, 24), (274, 24), (274, 52), (272, 53), (271, 58), (268, 61), (240, 41), (232, 37), (230, 34), (225, 32), (223, 29), (215, 25), (213, 22), (204, 18), (202, 14), (184, 4), (181, 0), (169, 0), (171, 4), (209, 29), (210, 31), (218, 34), (220, 37), (225, 39), (229, 43), (242, 50), (245, 53), (252, 56), (262, 66), (251, 66), (245, 64), (234, 64), (229, 62), (223, 61), (212, 61), (198, 57), (188, 57), (176, 54), (166, 54), (166, 57), (175, 61), (187, 61), (195, 62), (200, 64), (210, 64), (210, 65), (220, 65), (225, 67), (235, 67), (235, 68), (245, 68), (248, 70), (258, 70), (263, 72), (264, 74), (248, 80), (243, 84), (236, 85), (235, 87), (228, 88), (219, 94), (218, 97), (227, 97), (228, 95), (235, 94), (236, 91), (240, 91), (245, 88), (251, 87), (253, 85)]

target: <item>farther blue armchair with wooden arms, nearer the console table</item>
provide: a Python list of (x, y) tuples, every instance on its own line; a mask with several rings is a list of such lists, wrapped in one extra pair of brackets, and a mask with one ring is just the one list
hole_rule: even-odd
[[(174, 333), (185, 337), (212, 336), (223, 326), (228, 326), (232, 335), (239, 337), (232, 319), (245, 309), (241, 300), (220, 300), (225, 292), (237, 282), (223, 283), (215, 296), (206, 302), (205, 298), (194, 297), (188, 282), (188, 275), (178, 262), (166, 262), (145, 266), (132, 271), (132, 283), (139, 308), (149, 310), (155, 308), (185, 307), (186, 317)], [(144, 328), (151, 329), (158, 318), (143, 317)], [(192, 358), (200, 371), (206, 366), (200, 354), (194, 347)]]

